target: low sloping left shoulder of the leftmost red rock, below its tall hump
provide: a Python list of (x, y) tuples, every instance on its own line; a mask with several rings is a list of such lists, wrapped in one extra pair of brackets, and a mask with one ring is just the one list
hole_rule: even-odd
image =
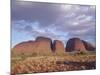
[(33, 51), (36, 52), (35, 47), (36, 47), (35, 41), (27, 41), (27, 42), (22, 42), (22, 43), (17, 44), (13, 48), (13, 51), (16, 54), (32, 53)]

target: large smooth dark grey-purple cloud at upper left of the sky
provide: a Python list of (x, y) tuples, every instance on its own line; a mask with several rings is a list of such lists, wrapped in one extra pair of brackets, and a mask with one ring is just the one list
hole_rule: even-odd
[(12, 5), (12, 7), (12, 19), (24, 19), (29, 21), (37, 20), (42, 25), (49, 25), (54, 23), (62, 12), (59, 9), (59, 5), (52, 5), (48, 3), (26, 3), (20, 1), (16, 2), (16, 4)]

